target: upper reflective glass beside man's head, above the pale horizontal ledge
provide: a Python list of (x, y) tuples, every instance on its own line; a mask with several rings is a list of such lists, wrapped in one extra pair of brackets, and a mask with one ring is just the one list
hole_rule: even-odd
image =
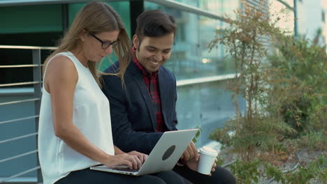
[(173, 15), (177, 23), (173, 52), (165, 63), (165, 66), (175, 73), (177, 79), (209, 77), (233, 72), (232, 62), (224, 59), (223, 45), (217, 45), (211, 52), (208, 48), (209, 43), (215, 38), (216, 30), (224, 29), (226, 23), (145, 2), (145, 10), (154, 9)]

